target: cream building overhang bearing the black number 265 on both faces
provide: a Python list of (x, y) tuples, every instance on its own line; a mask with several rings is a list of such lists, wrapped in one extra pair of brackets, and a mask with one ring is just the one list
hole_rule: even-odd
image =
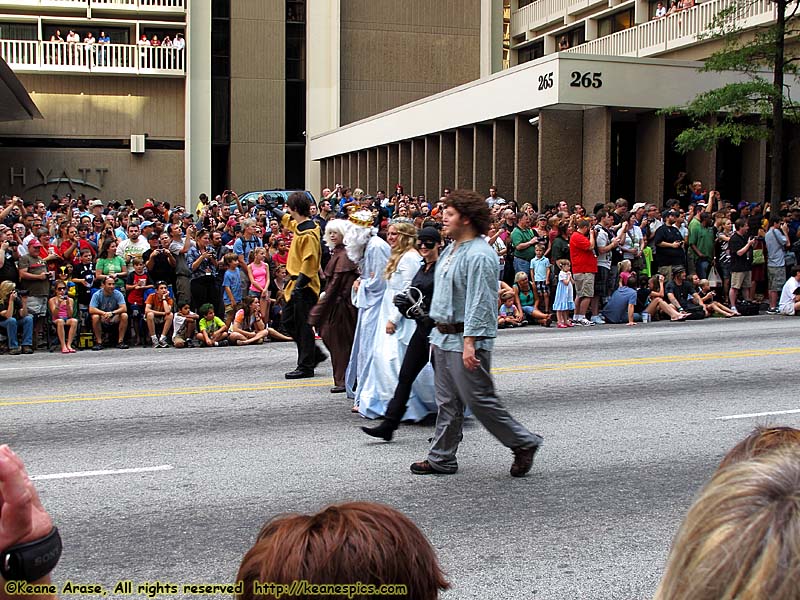
[(702, 66), (701, 62), (550, 54), (315, 135), (309, 155), (321, 160), (513, 115), (533, 116), (543, 108), (678, 106), (701, 92), (746, 78), (737, 72), (700, 72)]

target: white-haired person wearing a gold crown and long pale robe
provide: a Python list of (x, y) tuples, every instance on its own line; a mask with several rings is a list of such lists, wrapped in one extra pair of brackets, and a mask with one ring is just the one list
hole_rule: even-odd
[[(363, 381), (373, 357), (376, 332), (380, 327), (381, 300), (386, 290), (383, 272), (389, 262), (390, 248), (378, 237), (370, 211), (350, 215), (351, 227), (344, 237), (347, 256), (359, 266), (361, 276), (353, 284), (353, 305), (358, 309), (356, 334), (345, 375), (347, 397), (355, 400), (356, 385)], [(384, 324), (385, 325), (385, 324)], [(358, 407), (354, 407), (354, 412)]]

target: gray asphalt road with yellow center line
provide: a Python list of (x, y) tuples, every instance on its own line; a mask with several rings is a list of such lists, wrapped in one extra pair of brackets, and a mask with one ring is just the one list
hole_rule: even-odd
[[(475, 423), (457, 475), (412, 475), (432, 427), (367, 438), (329, 363), (283, 379), (287, 344), (4, 356), (0, 442), (58, 476), (37, 487), (59, 584), (231, 582), (269, 517), (360, 499), (419, 524), (444, 598), (647, 598), (727, 449), (759, 423), (800, 426), (798, 333), (786, 317), (501, 332), (499, 394), (545, 438), (524, 479)], [(776, 411), (795, 412), (746, 416)]]

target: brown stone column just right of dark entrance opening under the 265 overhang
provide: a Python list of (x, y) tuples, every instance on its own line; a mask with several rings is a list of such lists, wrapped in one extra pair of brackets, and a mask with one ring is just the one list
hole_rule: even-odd
[(663, 206), (666, 122), (663, 116), (645, 113), (636, 123), (636, 199)]

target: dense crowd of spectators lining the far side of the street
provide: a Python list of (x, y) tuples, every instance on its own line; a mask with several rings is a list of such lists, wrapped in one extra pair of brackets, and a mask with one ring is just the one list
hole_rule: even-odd
[[(322, 191), (313, 220), (324, 233), (329, 220), (366, 209), (381, 232), (396, 218), (440, 227), (442, 193), (430, 202), (400, 184), (375, 196), (337, 185)], [(663, 209), (620, 198), (537, 212), (495, 187), (486, 202), (501, 327), (734, 317), (757, 313), (761, 299), (768, 313), (800, 311), (800, 204), (734, 206), (699, 182)], [(230, 190), (202, 195), (195, 212), (152, 198), (137, 208), (83, 195), (5, 197), (0, 334), (9, 353), (288, 340), (281, 313), (292, 234), (267, 204), (262, 196), (243, 205)]]

